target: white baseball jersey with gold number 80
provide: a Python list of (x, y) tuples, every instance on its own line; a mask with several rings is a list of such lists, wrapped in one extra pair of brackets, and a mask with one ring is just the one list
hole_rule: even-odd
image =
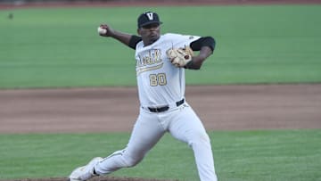
[(152, 45), (136, 45), (136, 76), (142, 106), (162, 106), (176, 103), (185, 95), (185, 70), (169, 62), (166, 51), (184, 47), (200, 37), (164, 34)]

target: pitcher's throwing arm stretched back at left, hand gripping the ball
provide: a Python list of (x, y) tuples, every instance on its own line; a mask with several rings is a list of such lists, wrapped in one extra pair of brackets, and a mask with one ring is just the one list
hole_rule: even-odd
[(119, 40), (119, 42), (123, 43), (124, 45), (128, 45), (129, 47), (136, 49), (136, 44), (142, 40), (141, 37), (130, 35), (128, 33), (120, 32), (115, 29), (111, 29), (110, 26), (103, 24), (100, 26), (103, 29), (106, 29), (107, 32), (104, 34), (99, 34), (102, 37), (112, 37), (114, 39)]

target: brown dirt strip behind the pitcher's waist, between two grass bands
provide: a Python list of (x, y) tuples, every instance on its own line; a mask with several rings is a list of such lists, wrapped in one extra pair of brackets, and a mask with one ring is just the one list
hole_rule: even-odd
[[(321, 84), (187, 86), (208, 130), (321, 128)], [(136, 87), (0, 90), (0, 133), (129, 132)]]

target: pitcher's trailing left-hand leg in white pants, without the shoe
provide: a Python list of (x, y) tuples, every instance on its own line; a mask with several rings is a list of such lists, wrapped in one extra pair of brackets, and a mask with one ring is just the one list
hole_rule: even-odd
[[(107, 175), (121, 168), (133, 167), (144, 159), (145, 154), (152, 149), (164, 133), (165, 130), (158, 122), (156, 114), (141, 109), (127, 147), (113, 152), (110, 156), (98, 161), (96, 164), (88, 166), (90, 168), (87, 167), (86, 170), (93, 170), (91, 176), (94, 177), (95, 175)], [(86, 175), (87, 173), (84, 172), (83, 174)], [(75, 179), (75, 181), (78, 180)]]

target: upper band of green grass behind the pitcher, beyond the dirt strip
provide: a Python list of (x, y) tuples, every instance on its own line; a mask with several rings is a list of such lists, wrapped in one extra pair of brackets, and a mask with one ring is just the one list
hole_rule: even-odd
[(0, 88), (135, 86), (134, 51), (96, 28), (136, 34), (136, 17), (149, 9), (162, 33), (216, 38), (187, 84), (321, 81), (321, 5), (49, 8), (0, 12)]

